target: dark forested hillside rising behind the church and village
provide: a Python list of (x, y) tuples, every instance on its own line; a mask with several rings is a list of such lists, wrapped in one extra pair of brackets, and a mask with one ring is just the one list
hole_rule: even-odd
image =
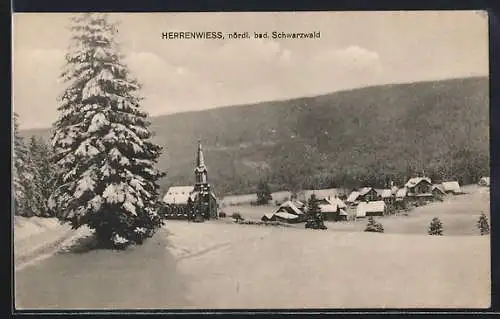
[[(383, 186), (424, 170), (475, 182), (489, 172), (485, 77), (367, 87), (316, 97), (159, 116), (163, 182), (191, 184), (201, 139), (219, 194), (276, 189)], [(48, 130), (23, 134), (49, 136)]]

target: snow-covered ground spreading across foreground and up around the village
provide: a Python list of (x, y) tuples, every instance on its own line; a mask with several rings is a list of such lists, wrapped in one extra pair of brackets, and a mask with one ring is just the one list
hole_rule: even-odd
[[(248, 207), (246, 212), (235, 208), (247, 218), (250, 208), (255, 216), (262, 213), (256, 209), (272, 209)], [(489, 193), (474, 188), (410, 216), (381, 218), (384, 234), (362, 232), (365, 221), (331, 223), (326, 231), (302, 224), (238, 225), (231, 218), (168, 221), (144, 245), (125, 252), (61, 249), (32, 267), (16, 268), (16, 304), (39, 309), (486, 308), (490, 241), (471, 226), (483, 211), (489, 213)], [(445, 236), (425, 234), (434, 216), (443, 221)], [(37, 219), (16, 219), (17, 250), (23, 240), (64, 233), (55, 221), (45, 220), (52, 226), (44, 228), (52, 230), (44, 232), (29, 225)], [(81, 229), (61, 246), (87, 235)]]

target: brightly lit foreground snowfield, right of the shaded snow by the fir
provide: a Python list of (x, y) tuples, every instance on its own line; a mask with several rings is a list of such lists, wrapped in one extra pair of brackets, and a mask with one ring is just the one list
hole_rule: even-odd
[(489, 237), (169, 222), (198, 308), (481, 308)]

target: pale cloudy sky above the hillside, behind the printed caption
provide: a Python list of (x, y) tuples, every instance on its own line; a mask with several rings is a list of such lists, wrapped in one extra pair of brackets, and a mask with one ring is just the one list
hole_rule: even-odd
[[(57, 116), (70, 33), (66, 13), (13, 18), (14, 110), (21, 128)], [(384, 83), (488, 74), (478, 12), (132, 13), (126, 62), (151, 115), (315, 95)], [(162, 40), (167, 31), (320, 31), (320, 39)]]

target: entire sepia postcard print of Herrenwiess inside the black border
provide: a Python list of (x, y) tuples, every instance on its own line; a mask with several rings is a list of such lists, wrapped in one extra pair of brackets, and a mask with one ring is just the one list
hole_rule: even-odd
[(491, 306), (483, 11), (13, 13), (16, 310)]

